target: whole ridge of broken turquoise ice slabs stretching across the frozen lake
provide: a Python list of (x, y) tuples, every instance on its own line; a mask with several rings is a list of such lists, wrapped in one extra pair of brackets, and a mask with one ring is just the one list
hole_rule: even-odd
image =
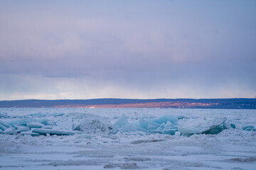
[[(46, 118), (25, 118), (9, 123), (0, 121), (0, 133), (8, 135), (75, 135), (105, 134), (137, 132), (138, 135), (160, 133), (166, 135), (193, 135), (218, 134), (225, 129), (237, 128), (239, 130), (255, 131), (254, 125), (240, 127), (225, 117), (208, 116), (203, 118), (178, 118), (177, 115), (161, 115), (159, 118), (139, 118), (129, 123), (126, 115), (122, 114), (117, 121), (110, 125), (105, 118), (99, 115), (84, 114), (69, 118), (61, 116), (60, 120)], [(79, 123), (80, 121), (80, 123)]]

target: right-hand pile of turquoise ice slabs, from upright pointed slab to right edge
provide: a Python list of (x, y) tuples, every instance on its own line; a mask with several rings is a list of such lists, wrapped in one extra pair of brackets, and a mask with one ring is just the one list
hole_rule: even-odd
[(136, 132), (161, 133), (169, 135), (218, 134), (222, 130), (237, 128), (240, 130), (256, 131), (253, 125), (240, 127), (227, 118), (178, 118), (176, 115), (162, 115), (156, 119), (139, 119), (129, 123), (122, 115), (112, 126), (112, 133)]

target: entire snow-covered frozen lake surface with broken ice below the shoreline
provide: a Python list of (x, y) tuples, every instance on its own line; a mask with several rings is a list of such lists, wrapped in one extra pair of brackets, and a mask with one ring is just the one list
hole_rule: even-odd
[(256, 110), (0, 108), (0, 169), (256, 169)]

